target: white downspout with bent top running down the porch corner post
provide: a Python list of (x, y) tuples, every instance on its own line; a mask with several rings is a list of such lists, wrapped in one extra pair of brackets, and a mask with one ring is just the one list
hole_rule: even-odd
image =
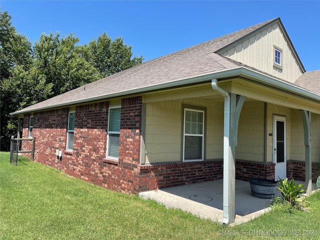
[(229, 223), (229, 138), (230, 138), (230, 96), (220, 88), (217, 79), (211, 80), (211, 87), (224, 97), (224, 133), (223, 133), (223, 223)]

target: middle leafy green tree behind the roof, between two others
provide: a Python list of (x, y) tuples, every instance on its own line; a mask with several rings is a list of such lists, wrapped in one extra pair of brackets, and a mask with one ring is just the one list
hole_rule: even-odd
[(34, 74), (52, 84), (52, 94), (58, 95), (100, 78), (97, 69), (75, 50), (77, 37), (42, 34), (34, 43)]

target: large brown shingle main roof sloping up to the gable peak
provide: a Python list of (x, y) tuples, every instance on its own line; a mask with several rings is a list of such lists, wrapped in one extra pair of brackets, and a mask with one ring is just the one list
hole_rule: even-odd
[(19, 114), (39, 109), (68, 105), (70, 103), (86, 102), (102, 99), (121, 92), (140, 92), (141, 88), (156, 86), (179, 79), (209, 74), (212, 72), (241, 66), (241, 63), (223, 57), (216, 51), (247, 36), (253, 31), (277, 21), (274, 18), (224, 36), (185, 48), (183, 50), (143, 62), (116, 74), (107, 76), (95, 82), (54, 96), (42, 102), (28, 106), (13, 114)]

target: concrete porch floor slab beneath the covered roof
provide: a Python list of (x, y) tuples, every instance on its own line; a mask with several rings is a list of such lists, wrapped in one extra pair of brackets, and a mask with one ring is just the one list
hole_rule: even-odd
[[(304, 183), (295, 181), (296, 184)], [(312, 183), (312, 189), (316, 189)], [(153, 191), (141, 192), (145, 199), (154, 199), (166, 207), (179, 208), (200, 218), (223, 221), (223, 179), (206, 181), (182, 186), (168, 187)], [(278, 189), (275, 196), (280, 196)], [(240, 224), (269, 211), (271, 199), (257, 198), (251, 195), (250, 183), (235, 180), (235, 222)]]

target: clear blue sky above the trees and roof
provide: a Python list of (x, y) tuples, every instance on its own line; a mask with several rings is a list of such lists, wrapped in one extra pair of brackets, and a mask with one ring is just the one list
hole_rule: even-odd
[(106, 32), (144, 61), (280, 17), (306, 71), (320, 69), (320, 0), (0, 0), (0, 7), (32, 43), (42, 32), (73, 32), (79, 44)]

